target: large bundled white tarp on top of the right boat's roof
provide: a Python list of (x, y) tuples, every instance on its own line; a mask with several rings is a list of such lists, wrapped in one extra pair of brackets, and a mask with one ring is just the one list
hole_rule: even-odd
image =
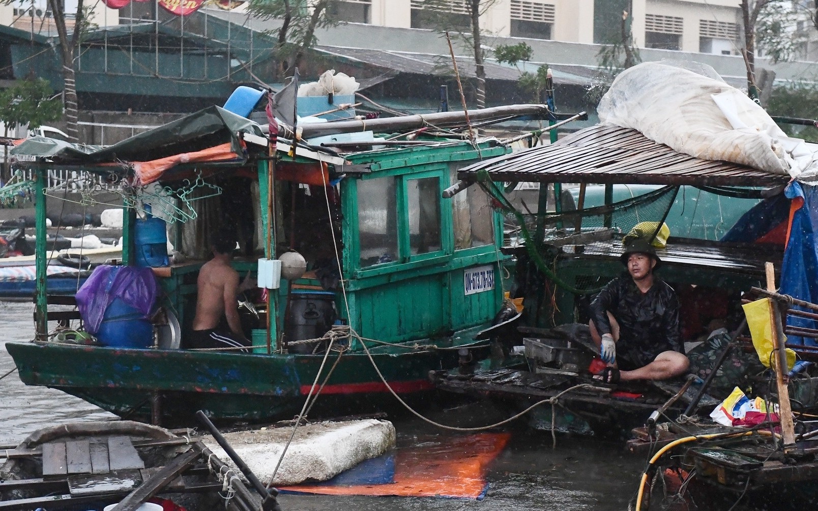
[(622, 71), (597, 108), (601, 123), (636, 129), (702, 159), (791, 177), (818, 175), (816, 157), (804, 141), (787, 137), (744, 92), (709, 66), (698, 66), (694, 72), (666, 61), (645, 62)]

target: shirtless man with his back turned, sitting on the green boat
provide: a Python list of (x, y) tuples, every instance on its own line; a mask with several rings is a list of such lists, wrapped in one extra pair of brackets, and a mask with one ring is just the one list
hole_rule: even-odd
[[(221, 231), (213, 240), (213, 259), (205, 262), (199, 271), (199, 295), (196, 298), (196, 317), (193, 331), (187, 342), (188, 348), (250, 347), (251, 343), (241, 331), (236, 295), (253, 284), (249, 273), (239, 285), (239, 274), (230, 266), (236, 239), (227, 231)], [(220, 329), (222, 318), (227, 318), (227, 326)], [(249, 353), (247, 349), (231, 349), (234, 352)]]

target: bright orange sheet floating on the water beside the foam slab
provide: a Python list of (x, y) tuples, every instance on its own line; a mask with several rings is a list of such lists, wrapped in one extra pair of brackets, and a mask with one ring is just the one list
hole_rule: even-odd
[(398, 495), (411, 497), (445, 496), (478, 499), (483, 495), (483, 478), (488, 465), (506, 447), (509, 433), (480, 433), (448, 437), (435, 445), (398, 449), (395, 477), (386, 484), (357, 486), (299, 485), (279, 490), (321, 495)]

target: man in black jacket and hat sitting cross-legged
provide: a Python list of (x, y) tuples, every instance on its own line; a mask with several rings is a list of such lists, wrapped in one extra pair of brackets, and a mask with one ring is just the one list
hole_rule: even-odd
[(602, 379), (662, 380), (684, 374), (679, 300), (654, 276), (661, 263), (646, 240), (627, 244), (622, 264), (628, 275), (611, 280), (591, 302), (591, 338), (608, 362)]

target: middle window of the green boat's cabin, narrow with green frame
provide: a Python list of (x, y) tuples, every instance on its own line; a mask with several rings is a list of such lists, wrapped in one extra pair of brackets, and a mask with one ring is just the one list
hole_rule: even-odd
[(440, 235), (440, 180), (424, 177), (407, 180), (409, 253), (443, 249)]

